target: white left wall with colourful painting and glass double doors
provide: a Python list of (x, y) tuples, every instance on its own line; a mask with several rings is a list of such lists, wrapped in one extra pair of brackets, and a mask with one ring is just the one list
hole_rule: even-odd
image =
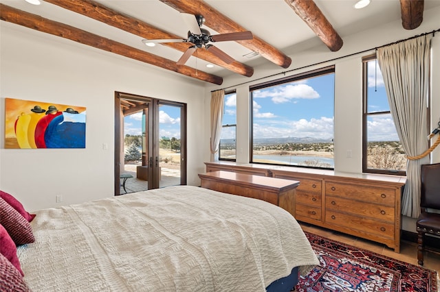
[[(1, 137), (5, 97), (87, 108), (85, 149), (4, 149), (1, 138), (1, 190), (16, 195), (28, 210), (113, 196), (115, 91), (188, 104), (188, 184), (199, 184), (203, 82), (4, 21), (0, 25)], [(56, 195), (63, 195), (62, 203)]]

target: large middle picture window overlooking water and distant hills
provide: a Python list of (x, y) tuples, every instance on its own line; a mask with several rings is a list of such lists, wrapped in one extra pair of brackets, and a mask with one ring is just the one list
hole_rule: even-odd
[(252, 86), (251, 162), (333, 169), (334, 67)]

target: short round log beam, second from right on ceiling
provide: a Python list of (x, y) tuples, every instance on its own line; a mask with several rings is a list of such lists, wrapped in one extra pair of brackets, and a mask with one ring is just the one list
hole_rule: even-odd
[(312, 0), (285, 0), (331, 51), (339, 51), (344, 42)]

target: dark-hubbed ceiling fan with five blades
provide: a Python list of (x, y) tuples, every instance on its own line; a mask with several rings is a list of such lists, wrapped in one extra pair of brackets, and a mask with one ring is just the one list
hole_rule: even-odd
[(201, 28), (201, 25), (205, 23), (205, 18), (201, 15), (194, 15), (188, 13), (181, 13), (185, 23), (190, 27), (188, 31), (188, 38), (186, 39), (157, 39), (157, 40), (142, 40), (145, 45), (151, 45), (159, 42), (190, 42), (192, 43), (191, 47), (184, 52), (184, 54), (177, 60), (178, 65), (183, 65), (188, 61), (190, 56), (199, 48), (205, 48), (208, 51), (212, 52), (215, 56), (217, 56), (220, 60), (225, 62), (226, 64), (230, 64), (234, 62), (234, 58), (229, 56), (221, 49), (214, 47), (209, 42), (224, 42), (227, 40), (252, 40), (254, 36), (252, 36), (252, 32), (231, 32), (228, 34), (216, 34), (211, 36), (210, 32), (207, 29)]

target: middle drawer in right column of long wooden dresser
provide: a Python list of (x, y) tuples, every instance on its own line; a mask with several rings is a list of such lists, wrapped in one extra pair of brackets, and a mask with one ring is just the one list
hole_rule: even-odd
[(356, 202), (353, 199), (327, 196), (325, 198), (326, 210), (347, 212), (353, 215), (370, 217), (372, 219), (388, 221), (394, 224), (395, 208), (366, 202)]

